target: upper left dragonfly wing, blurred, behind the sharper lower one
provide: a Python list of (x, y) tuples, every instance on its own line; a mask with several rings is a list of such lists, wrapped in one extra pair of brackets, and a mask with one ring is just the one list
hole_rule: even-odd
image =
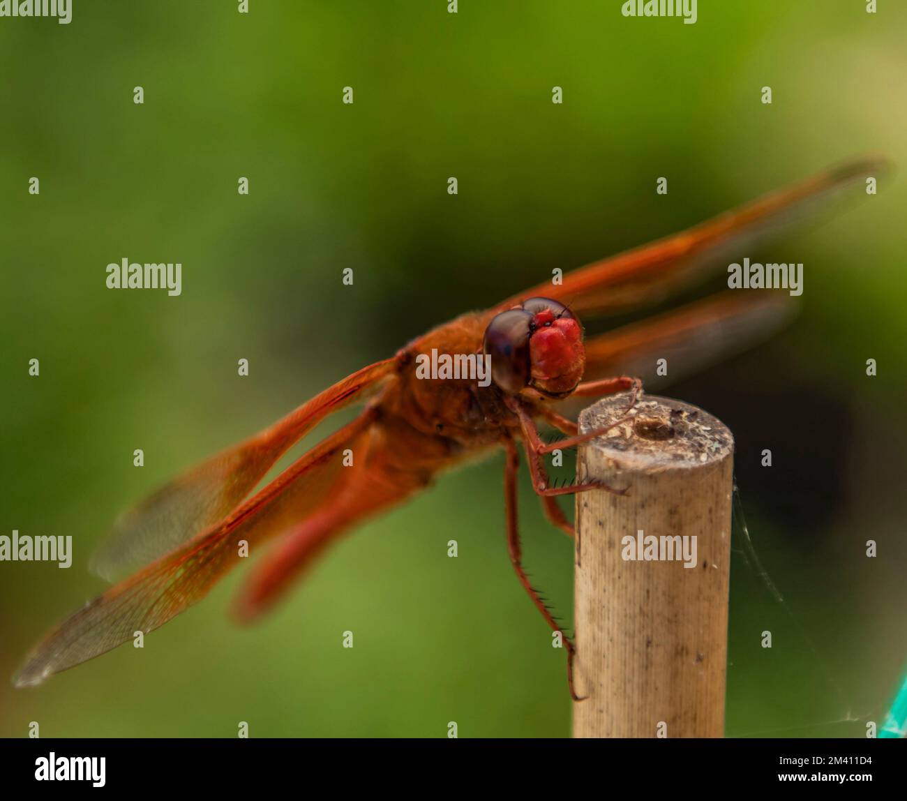
[(223, 520), (268, 470), (315, 425), (390, 376), (396, 358), (364, 367), (328, 387), (274, 425), (217, 454), (125, 513), (92, 559), (111, 581), (171, 552)]

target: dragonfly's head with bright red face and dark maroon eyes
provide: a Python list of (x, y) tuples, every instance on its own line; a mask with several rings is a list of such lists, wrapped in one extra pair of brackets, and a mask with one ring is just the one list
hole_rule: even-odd
[(529, 298), (493, 317), (483, 347), (492, 357), (493, 382), (511, 395), (525, 389), (570, 395), (586, 366), (580, 321), (550, 298)]

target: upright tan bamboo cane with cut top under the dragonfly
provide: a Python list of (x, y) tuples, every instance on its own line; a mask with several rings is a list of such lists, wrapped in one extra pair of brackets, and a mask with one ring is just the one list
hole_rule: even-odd
[[(580, 433), (628, 405), (590, 406)], [(723, 737), (734, 439), (667, 398), (629, 417), (580, 445), (579, 481), (627, 493), (577, 495), (573, 737)]]

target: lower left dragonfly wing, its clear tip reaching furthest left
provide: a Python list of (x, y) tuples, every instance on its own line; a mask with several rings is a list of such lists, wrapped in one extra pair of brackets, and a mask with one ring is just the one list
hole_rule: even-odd
[(40, 684), (48, 676), (99, 656), (185, 611), (208, 594), (251, 549), (284, 532), (317, 508), (343, 479), (343, 450), (358, 449), (374, 422), (366, 411), (328, 436), (209, 532), (121, 581), (63, 620), (26, 657), (14, 682)]

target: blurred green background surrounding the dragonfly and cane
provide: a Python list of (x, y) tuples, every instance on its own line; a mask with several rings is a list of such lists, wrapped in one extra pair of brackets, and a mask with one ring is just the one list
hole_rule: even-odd
[[(701, 0), (693, 25), (619, 0), (236, 5), (0, 20), (0, 531), (75, 547), (68, 571), (0, 563), (2, 676), (102, 590), (87, 561), (117, 513), (409, 337), (847, 156), (907, 163), (901, 3)], [(895, 176), (750, 253), (805, 262), (800, 317), (670, 388), (734, 429), (785, 594), (735, 557), (730, 736), (863, 737), (907, 665), (905, 197)], [(105, 288), (124, 257), (180, 261), (181, 297)], [(512, 575), (501, 475), (498, 456), (363, 526), (257, 627), (226, 615), (237, 573), (144, 650), (39, 689), (4, 679), (0, 735), (567, 736), (563, 652)], [(571, 543), (522, 480), (526, 562), (569, 613)]]

